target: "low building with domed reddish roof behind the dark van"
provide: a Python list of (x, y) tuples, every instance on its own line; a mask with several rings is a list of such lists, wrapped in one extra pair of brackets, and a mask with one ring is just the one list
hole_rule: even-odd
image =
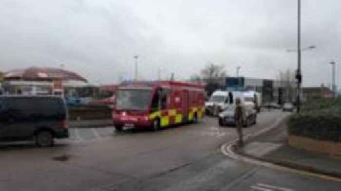
[(67, 101), (79, 102), (79, 98), (84, 98), (85, 103), (99, 94), (99, 87), (89, 84), (87, 79), (75, 72), (42, 67), (5, 72), (2, 88), (5, 94), (61, 95), (71, 98)]

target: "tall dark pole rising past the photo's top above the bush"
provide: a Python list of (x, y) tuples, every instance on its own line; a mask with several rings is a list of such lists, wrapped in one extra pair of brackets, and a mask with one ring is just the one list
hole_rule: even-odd
[(302, 73), (301, 73), (301, 0), (297, 0), (297, 113), (300, 113), (301, 106), (301, 83), (302, 83)]

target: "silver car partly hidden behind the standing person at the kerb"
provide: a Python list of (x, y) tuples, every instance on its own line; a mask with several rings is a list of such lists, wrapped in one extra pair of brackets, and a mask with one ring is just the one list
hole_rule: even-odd
[[(245, 111), (246, 120), (244, 126), (248, 127), (252, 124), (257, 123), (257, 111), (255, 109), (246, 109)], [(230, 105), (225, 111), (221, 112), (218, 117), (218, 124), (220, 126), (224, 125), (235, 125), (234, 120), (234, 106)]]

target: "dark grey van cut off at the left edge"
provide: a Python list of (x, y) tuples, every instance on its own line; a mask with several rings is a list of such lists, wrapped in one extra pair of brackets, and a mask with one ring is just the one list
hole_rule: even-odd
[(54, 138), (68, 138), (68, 113), (57, 96), (0, 96), (0, 140), (35, 140), (53, 146)]

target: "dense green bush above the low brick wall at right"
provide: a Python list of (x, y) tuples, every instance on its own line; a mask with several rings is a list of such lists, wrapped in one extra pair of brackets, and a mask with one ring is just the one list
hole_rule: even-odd
[(341, 115), (330, 110), (294, 114), (288, 120), (290, 135), (341, 142)]

